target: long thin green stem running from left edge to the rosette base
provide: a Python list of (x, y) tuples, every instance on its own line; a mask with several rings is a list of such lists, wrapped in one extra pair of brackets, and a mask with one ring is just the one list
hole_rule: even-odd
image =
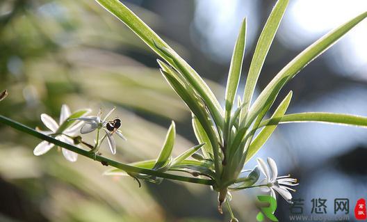
[(108, 164), (109, 166), (113, 166), (115, 168), (119, 168), (122, 171), (126, 171), (128, 173), (142, 173), (147, 175), (154, 175), (156, 177), (162, 177), (165, 179), (170, 180), (179, 180), (183, 182), (191, 182), (195, 184), (205, 184), (205, 185), (213, 185), (215, 182), (213, 180), (205, 180), (205, 179), (199, 179), (199, 178), (193, 178), (193, 177), (185, 177), (181, 175), (173, 175), (170, 173), (163, 173), (159, 171), (154, 171), (147, 168), (140, 168), (136, 166), (131, 166), (129, 164), (122, 164), (120, 162), (114, 161), (112, 159), (108, 159), (106, 157), (102, 157), (98, 154), (95, 154), (93, 152), (88, 152), (86, 150), (82, 150), (81, 148), (77, 148), (74, 145), (70, 145), (68, 143), (63, 143), (62, 141), (58, 141), (56, 138), (52, 138), (51, 136), (47, 136), (44, 134), (41, 134), (40, 132), (35, 131), (34, 129), (27, 127), (25, 125), (22, 125), (19, 122), (16, 122), (14, 120), (11, 120), (9, 118), (6, 118), (5, 116), (0, 115), (0, 122), (8, 125), (10, 127), (13, 127), (14, 129), (17, 129), (21, 132), (24, 132), (26, 134), (30, 134), (31, 136), (35, 136), (37, 138), (40, 138), (44, 141), (48, 141), (49, 143), (54, 143), (55, 145), (58, 145), (62, 148), (65, 148), (67, 150), (70, 150), (72, 152), (76, 152), (77, 154), (81, 154), (84, 157), (88, 157), (90, 159), (95, 159), (96, 161), (99, 161), (104, 164)]

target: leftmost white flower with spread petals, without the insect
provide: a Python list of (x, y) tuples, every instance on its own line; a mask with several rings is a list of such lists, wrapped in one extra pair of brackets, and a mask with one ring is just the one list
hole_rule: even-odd
[[(53, 119), (51, 118), (51, 116), (42, 113), (41, 114), (41, 120), (44, 123), (44, 125), (49, 128), (49, 131), (40, 131), (42, 132), (42, 134), (46, 134), (46, 135), (51, 135), (51, 134), (55, 134), (58, 131), (58, 128), (60, 127), (60, 125), (63, 124), (63, 122), (65, 120), (67, 120), (67, 118), (71, 115), (70, 109), (67, 105), (63, 104), (63, 106), (61, 106), (61, 112), (60, 112), (60, 121), (59, 124)], [(58, 132), (58, 133), (63, 133), (63, 134), (59, 134), (57, 135), (55, 138), (58, 139), (59, 141), (63, 141), (64, 143), (69, 143), (70, 145), (74, 145), (74, 141), (72, 140), (72, 138), (68, 137), (68, 136), (73, 136), (76, 132), (78, 132), (79, 128), (81, 127), (81, 124), (83, 122), (79, 122), (76, 123), (74, 125), (71, 125), (70, 127), (67, 127), (67, 129), (65, 129), (63, 132)], [(68, 136), (65, 136), (68, 135)], [(49, 150), (51, 150), (51, 148), (54, 147), (53, 143), (49, 143), (48, 141), (42, 141), (41, 143), (39, 143), (35, 149), (33, 150), (33, 154), (35, 154), (36, 156), (40, 156), (42, 154), (45, 154), (46, 152), (48, 152)], [(67, 150), (65, 148), (62, 148), (62, 152), (64, 157), (68, 160), (68, 161), (76, 161), (76, 159), (78, 159), (78, 154), (76, 154), (75, 152), (72, 152), (70, 150)]]

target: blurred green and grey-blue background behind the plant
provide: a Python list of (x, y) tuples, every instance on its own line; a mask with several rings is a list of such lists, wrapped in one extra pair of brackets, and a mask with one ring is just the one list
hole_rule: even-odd
[[(246, 16), (249, 21), (245, 76), (256, 38), (275, 3), (123, 2), (188, 59), (220, 101), (242, 18)], [(266, 59), (259, 88), (313, 40), (367, 10), (363, 0), (347, 5), (334, 1), (335, 8), (328, 9), (329, 14), (313, 6), (327, 6), (330, 1), (304, 2), (291, 1)], [(309, 13), (313, 17), (308, 17)], [(320, 22), (322, 19), (325, 22)], [(291, 113), (334, 111), (367, 116), (366, 27), (366, 21), (362, 22), (282, 91), (285, 95), (294, 90)], [(117, 141), (114, 157), (106, 145), (101, 152), (119, 161), (156, 157), (170, 120), (177, 122), (179, 134), (174, 154), (197, 144), (190, 111), (161, 77), (156, 55), (95, 1), (0, 1), (3, 89), (8, 89), (9, 96), (0, 104), (1, 115), (30, 127), (43, 127), (41, 113), (58, 118), (64, 103), (72, 111), (90, 107), (95, 113), (100, 106), (105, 110), (117, 106), (113, 115), (122, 119), (122, 132), (128, 141)], [(259, 156), (273, 157), (282, 175), (293, 173), (300, 178), (296, 196), (306, 199), (308, 207), (309, 200), (318, 196), (329, 197), (332, 203), (337, 197), (325, 189), (329, 186), (352, 203), (367, 191), (366, 136), (364, 129), (286, 125), (279, 127)], [(218, 214), (216, 194), (209, 187), (165, 180), (138, 188), (130, 177), (102, 175), (107, 168), (90, 159), (79, 157), (70, 163), (56, 149), (34, 157), (33, 148), (39, 142), (0, 125), (0, 221), (229, 219), (227, 212)], [(247, 168), (253, 167), (254, 161)], [(241, 191), (234, 196), (232, 203), (240, 221), (254, 221), (259, 211), (254, 205), (256, 193)], [(279, 200), (279, 220), (288, 221), (287, 215), (288, 205)]]

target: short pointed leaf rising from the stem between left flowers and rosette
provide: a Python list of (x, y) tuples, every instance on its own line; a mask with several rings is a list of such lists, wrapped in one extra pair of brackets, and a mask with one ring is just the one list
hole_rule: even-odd
[(174, 126), (174, 122), (172, 121), (170, 128), (168, 129), (167, 135), (165, 136), (165, 143), (153, 169), (160, 169), (168, 164), (168, 161), (170, 160), (172, 154), (175, 138), (176, 127)]

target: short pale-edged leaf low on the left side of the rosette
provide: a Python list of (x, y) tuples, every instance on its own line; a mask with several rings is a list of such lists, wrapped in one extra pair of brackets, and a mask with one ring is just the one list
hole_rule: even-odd
[(197, 120), (197, 117), (193, 114), (193, 129), (195, 136), (197, 138), (197, 141), (199, 143), (204, 144), (202, 147), (202, 152), (204, 154), (204, 157), (206, 159), (211, 159), (213, 156), (213, 148), (211, 147), (211, 142), (209, 140), (208, 135), (206, 134), (204, 128), (200, 124), (199, 120)]

